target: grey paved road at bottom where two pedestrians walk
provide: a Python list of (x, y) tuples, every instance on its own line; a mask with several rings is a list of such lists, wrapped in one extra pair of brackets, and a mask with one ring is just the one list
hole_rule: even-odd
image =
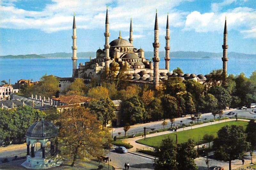
[(111, 165), (124, 168), (124, 163), (129, 162), (130, 168), (129, 170), (152, 170), (154, 169), (153, 159), (141, 157), (138, 155), (134, 155), (132, 153), (117, 153), (115, 150), (110, 150), (107, 154), (109, 158), (111, 158)]

